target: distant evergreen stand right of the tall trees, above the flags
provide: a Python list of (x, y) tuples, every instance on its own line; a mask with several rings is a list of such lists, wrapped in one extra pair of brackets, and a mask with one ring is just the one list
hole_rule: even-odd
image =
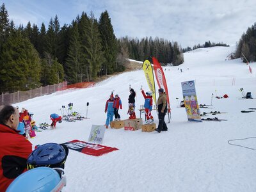
[(184, 62), (182, 48), (178, 43), (163, 38), (156, 37), (153, 40), (150, 36), (138, 40), (138, 38), (126, 36), (118, 39), (118, 45), (129, 54), (129, 58), (132, 60), (150, 60), (151, 56), (154, 56), (162, 65), (170, 63), (180, 65)]

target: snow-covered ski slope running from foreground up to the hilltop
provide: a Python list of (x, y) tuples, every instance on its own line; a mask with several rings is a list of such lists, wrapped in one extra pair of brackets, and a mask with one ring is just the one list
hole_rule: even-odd
[[(256, 139), (232, 141), (244, 147), (228, 144), (228, 140), (256, 136), (256, 112), (241, 113), (256, 108), (256, 99), (241, 100), (238, 91), (243, 87), (256, 97), (256, 64), (250, 64), (253, 70), (250, 74), (241, 60), (225, 60), (234, 49), (196, 49), (184, 54), (184, 64), (163, 67), (172, 108), (168, 132), (107, 129), (102, 145), (119, 150), (99, 157), (69, 150), (65, 163), (67, 186), (63, 191), (256, 191), (256, 151), (244, 148), (256, 149)], [(212, 93), (214, 96), (227, 93), (228, 99), (212, 99), (213, 109), (201, 109), (201, 112), (227, 112), (216, 115), (227, 122), (188, 122), (185, 109), (177, 108), (176, 100), (182, 99), (180, 82), (188, 80), (195, 80), (199, 104), (211, 104)], [(88, 141), (92, 125), (105, 124), (104, 108), (112, 90), (122, 99), (121, 118), (128, 118), (129, 84), (136, 90), (136, 115), (140, 116), (138, 109), (144, 103), (140, 88), (148, 90), (143, 70), (110, 77), (92, 88), (53, 93), (13, 106), (33, 112), (36, 124), (50, 124), (49, 116), (61, 114), (61, 106), (67, 107), (72, 102), (74, 111), (85, 116), (89, 102), (90, 119), (63, 122), (57, 124), (56, 130), (36, 132), (36, 138), (29, 139), (34, 146)], [(158, 124), (156, 111), (152, 113)]]

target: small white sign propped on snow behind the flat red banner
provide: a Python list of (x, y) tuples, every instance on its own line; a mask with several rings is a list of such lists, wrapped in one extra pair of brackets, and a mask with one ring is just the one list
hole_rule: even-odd
[(88, 141), (101, 144), (104, 138), (105, 130), (106, 128), (104, 125), (92, 125)]

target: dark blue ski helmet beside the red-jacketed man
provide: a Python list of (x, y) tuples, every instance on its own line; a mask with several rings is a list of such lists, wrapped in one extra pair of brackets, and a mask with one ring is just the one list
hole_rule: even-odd
[(28, 157), (28, 170), (39, 166), (64, 168), (67, 156), (68, 148), (66, 145), (57, 143), (39, 145)]

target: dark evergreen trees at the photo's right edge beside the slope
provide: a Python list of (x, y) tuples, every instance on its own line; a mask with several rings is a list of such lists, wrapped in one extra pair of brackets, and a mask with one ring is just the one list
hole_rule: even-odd
[(256, 61), (256, 22), (241, 36), (235, 56), (236, 58), (243, 58), (244, 63), (246, 63), (246, 59), (249, 62)]

